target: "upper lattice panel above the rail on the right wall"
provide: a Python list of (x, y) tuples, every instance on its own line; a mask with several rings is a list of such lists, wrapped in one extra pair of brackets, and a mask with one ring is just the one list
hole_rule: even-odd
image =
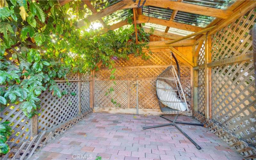
[(255, 9), (247, 12), (227, 27), (216, 32), (212, 40), (212, 61), (222, 60), (252, 51), (250, 29), (256, 22)]

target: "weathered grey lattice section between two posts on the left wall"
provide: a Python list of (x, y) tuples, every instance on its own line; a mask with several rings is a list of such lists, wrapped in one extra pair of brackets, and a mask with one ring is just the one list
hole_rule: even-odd
[(57, 82), (61, 92), (68, 94), (61, 98), (53, 96), (49, 89), (44, 91), (41, 96), (40, 116), (38, 117), (38, 130), (48, 130), (56, 125), (63, 123), (77, 115), (78, 110), (78, 84), (71, 82), (77, 80), (77, 74), (68, 76), (70, 82)]

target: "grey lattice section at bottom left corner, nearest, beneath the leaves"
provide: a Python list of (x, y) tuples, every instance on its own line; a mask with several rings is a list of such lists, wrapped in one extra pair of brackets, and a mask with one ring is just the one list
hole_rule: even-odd
[(1, 111), (1, 122), (9, 121), (12, 128), (12, 136), (7, 144), (12, 147), (30, 139), (30, 120), (23, 114), (19, 105), (10, 104)]

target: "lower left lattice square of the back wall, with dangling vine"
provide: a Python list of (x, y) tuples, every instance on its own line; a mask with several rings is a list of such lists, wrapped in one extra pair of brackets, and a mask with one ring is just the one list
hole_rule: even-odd
[[(95, 107), (117, 107), (111, 102), (111, 99), (116, 100), (116, 103), (121, 105), (121, 108), (127, 108), (128, 104), (128, 86), (127, 81), (95, 81)], [(110, 87), (114, 88), (111, 94), (106, 95)]]

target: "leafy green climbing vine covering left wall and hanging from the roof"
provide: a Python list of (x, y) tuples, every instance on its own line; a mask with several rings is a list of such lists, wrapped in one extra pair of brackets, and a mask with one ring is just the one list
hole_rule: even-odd
[[(97, 69), (100, 61), (113, 69), (115, 58), (128, 59), (132, 53), (147, 58), (142, 48), (147, 46), (149, 34), (141, 26), (137, 26), (139, 44), (135, 43), (134, 25), (103, 33), (85, 19), (87, 26), (77, 28), (77, 21), (90, 14), (86, 5), (79, 0), (65, 5), (60, 2), (0, 1), (1, 110), (10, 103), (20, 104), (31, 118), (39, 114), (38, 97), (47, 88), (58, 97), (67, 94), (60, 91), (55, 78)], [(132, 14), (128, 19), (132, 23)], [(4, 126), (8, 128), (8, 122), (1, 124), (1, 153), (8, 150), (2, 148), (9, 136), (2, 134)]]

